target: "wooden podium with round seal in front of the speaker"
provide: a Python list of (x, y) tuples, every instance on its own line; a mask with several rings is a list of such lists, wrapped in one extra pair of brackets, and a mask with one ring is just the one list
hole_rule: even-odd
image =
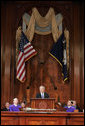
[(54, 98), (31, 98), (31, 108), (34, 109), (55, 109), (55, 99)]

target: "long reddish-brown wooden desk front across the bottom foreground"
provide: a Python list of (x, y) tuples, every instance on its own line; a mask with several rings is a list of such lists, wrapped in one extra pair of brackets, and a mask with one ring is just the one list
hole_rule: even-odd
[(1, 125), (84, 125), (84, 113), (1, 112)]

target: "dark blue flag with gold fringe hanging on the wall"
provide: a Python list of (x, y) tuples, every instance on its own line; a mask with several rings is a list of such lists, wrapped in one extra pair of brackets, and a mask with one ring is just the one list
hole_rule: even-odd
[(68, 79), (68, 72), (67, 72), (67, 60), (66, 60), (66, 39), (64, 36), (64, 32), (61, 34), (59, 39), (56, 43), (53, 44), (53, 47), (49, 54), (55, 58), (58, 63), (62, 67), (62, 75), (64, 81)]

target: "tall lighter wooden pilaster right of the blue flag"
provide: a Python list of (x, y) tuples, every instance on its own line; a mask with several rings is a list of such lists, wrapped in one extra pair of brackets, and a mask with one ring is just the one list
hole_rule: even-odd
[(75, 4), (74, 7), (74, 99), (80, 100), (80, 46), (79, 46), (79, 6)]

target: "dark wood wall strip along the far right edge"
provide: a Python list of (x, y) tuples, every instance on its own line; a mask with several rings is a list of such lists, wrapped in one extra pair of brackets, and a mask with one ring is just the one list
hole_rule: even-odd
[(81, 3), (80, 7), (80, 105), (84, 109), (84, 2)]

